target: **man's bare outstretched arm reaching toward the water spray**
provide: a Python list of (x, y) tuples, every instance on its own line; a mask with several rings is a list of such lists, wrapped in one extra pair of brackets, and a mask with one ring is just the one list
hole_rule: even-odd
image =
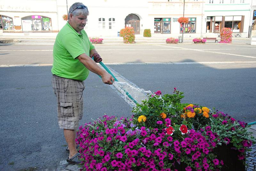
[[(93, 50), (93, 49), (92, 49)], [(96, 50), (95, 50), (96, 51)], [(91, 53), (90, 53), (91, 54)], [(82, 53), (77, 57), (77, 59), (84, 64), (84, 66), (92, 71), (95, 74), (98, 74), (101, 76), (102, 82), (105, 84), (113, 84), (115, 79), (108, 74), (106, 71), (101, 69), (89, 56), (87, 56), (85, 53)]]

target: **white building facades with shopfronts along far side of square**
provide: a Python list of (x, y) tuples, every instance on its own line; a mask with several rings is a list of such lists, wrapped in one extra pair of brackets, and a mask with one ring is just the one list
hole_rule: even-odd
[[(230, 27), (235, 37), (250, 36), (256, 19), (256, 0), (95, 0), (80, 1), (89, 9), (85, 30), (90, 37), (118, 36), (125, 26), (135, 34), (177, 37), (218, 37)], [(3, 35), (56, 35), (66, 24), (62, 16), (74, 0), (1, 0), (0, 31)], [(189, 18), (182, 25), (178, 18)]]

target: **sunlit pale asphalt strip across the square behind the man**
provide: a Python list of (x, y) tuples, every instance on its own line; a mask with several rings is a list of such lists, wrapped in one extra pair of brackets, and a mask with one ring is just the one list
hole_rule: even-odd
[[(256, 61), (256, 46), (220, 43), (95, 45), (104, 63)], [(52, 45), (0, 46), (0, 64), (52, 64)]]

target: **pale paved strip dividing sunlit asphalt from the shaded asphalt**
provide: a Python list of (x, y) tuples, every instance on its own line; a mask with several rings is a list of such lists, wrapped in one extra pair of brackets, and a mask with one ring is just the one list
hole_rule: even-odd
[[(147, 65), (147, 64), (243, 64), (243, 63), (251, 63), (254, 64), (256, 61), (224, 61), (224, 62), (129, 62), (129, 63), (105, 63), (105, 65)], [(98, 64), (99, 65), (99, 64)], [(49, 67), (52, 66), (52, 64), (32, 64), (32, 65), (1, 65), (0, 68), (4, 67)]]

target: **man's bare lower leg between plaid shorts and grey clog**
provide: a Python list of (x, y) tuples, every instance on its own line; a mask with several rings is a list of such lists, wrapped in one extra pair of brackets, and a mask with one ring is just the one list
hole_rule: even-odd
[(69, 159), (71, 159), (76, 153), (76, 130), (63, 129), (64, 137), (68, 143), (69, 148)]

